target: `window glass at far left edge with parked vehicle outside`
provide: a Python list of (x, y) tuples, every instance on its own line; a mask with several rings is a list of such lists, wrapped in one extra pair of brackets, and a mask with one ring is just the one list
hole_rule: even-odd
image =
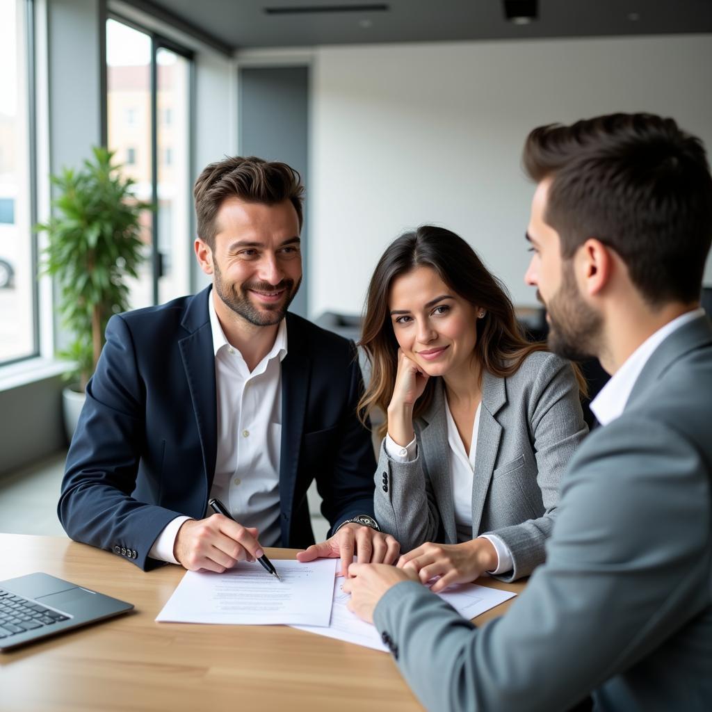
[(31, 10), (0, 0), (0, 363), (37, 353)]

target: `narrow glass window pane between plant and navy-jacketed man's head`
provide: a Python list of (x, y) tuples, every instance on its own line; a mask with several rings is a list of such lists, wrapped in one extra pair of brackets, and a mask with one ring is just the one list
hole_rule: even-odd
[(158, 281), (159, 301), (189, 290), (192, 241), (189, 177), (190, 62), (159, 48), (158, 72), (158, 250), (163, 276)]

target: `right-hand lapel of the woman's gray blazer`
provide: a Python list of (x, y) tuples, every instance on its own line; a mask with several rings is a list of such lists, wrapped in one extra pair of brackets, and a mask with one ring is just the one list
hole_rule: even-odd
[(502, 436), (502, 426), (496, 421), (495, 415), (506, 402), (507, 389), (505, 379), (484, 372), (482, 377), (480, 425), (477, 432), (477, 452), (472, 478), (473, 538), (478, 535), (480, 530), (482, 512), (499, 451), (499, 441)]

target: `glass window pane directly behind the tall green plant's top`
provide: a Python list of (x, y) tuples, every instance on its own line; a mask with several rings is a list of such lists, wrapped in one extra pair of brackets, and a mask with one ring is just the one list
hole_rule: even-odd
[[(115, 20), (106, 23), (108, 145), (114, 162), (132, 177), (138, 199), (151, 201), (151, 38)], [(130, 281), (131, 308), (153, 303), (151, 213), (144, 211), (146, 259)]]

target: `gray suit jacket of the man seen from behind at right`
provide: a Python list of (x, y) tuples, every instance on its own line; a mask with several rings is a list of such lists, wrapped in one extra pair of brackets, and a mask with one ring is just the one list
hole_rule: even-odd
[(676, 330), (564, 476), (546, 563), (475, 629), (424, 587), (375, 610), (426, 708), (712, 708), (712, 325)]

